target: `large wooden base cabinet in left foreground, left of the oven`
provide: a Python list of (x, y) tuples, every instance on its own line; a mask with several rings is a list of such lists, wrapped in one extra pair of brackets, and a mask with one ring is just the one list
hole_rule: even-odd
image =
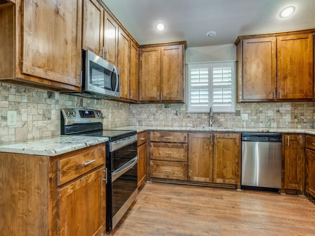
[[(104, 143), (58, 156), (1, 152), (0, 170), (0, 235), (99, 236), (105, 231)], [(70, 177), (64, 170), (72, 170)]]

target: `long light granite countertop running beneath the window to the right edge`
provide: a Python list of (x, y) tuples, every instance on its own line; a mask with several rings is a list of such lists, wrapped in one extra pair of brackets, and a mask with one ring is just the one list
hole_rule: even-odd
[(224, 128), (224, 127), (187, 127), (187, 126), (124, 126), (117, 127), (117, 130), (137, 130), (142, 132), (146, 130), (170, 130), (170, 131), (216, 131), (216, 132), (264, 132), (264, 133), (305, 133), (314, 134), (315, 129), (298, 128)]

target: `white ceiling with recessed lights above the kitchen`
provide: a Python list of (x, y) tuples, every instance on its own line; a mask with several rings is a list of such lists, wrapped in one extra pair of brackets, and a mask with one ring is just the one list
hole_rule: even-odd
[[(187, 41), (188, 47), (232, 44), (237, 36), (315, 28), (315, 0), (103, 0), (140, 44)], [(289, 18), (280, 11), (295, 6)], [(166, 24), (157, 32), (158, 22)], [(215, 30), (217, 36), (206, 33)]]

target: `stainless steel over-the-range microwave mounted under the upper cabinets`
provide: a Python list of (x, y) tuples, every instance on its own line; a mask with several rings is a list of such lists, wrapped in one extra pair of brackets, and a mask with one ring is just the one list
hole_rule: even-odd
[(120, 70), (88, 50), (82, 50), (81, 91), (63, 92), (82, 97), (120, 97)]

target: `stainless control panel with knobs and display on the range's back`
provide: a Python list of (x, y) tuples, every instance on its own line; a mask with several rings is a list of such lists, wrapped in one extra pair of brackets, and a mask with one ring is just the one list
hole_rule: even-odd
[(64, 125), (103, 122), (103, 114), (91, 109), (61, 109)]

